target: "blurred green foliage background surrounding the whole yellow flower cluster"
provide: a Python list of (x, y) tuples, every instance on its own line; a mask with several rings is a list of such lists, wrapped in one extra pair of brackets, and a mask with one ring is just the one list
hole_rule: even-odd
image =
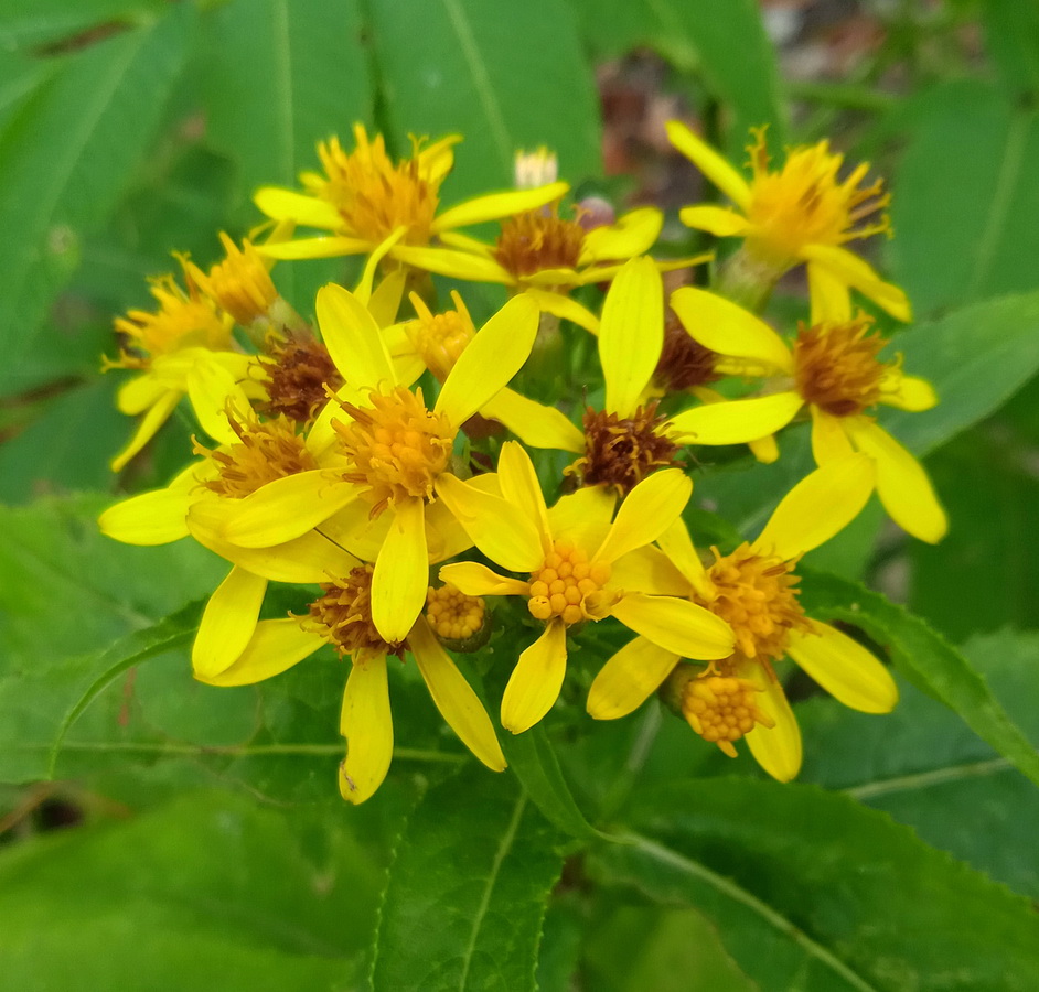
[[(1039, 7), (7, 0), (0, 51), (11, 988), (1036, 988), (1039, 797), (1021, 772), (1039, 781)], [(354, 121), (398, 152), (462, 133), (449, 203), (506, 187), (514, 151), (546, 144), (580, 192), (667, 209), (665, 250), (684, 250), (675, 211), (708, 191), (666, 144), (668, 117), (737, 159), (750, 126), (773, 148), (829, 137), (889, 180), (896, 237), (874, 250), (919, 319), (895, 344), (943, 403), (886, 422), (929, 454), (952, 530), (906, 542), (874, 508), (811, 556), (840, 578), (805, 596), (851, 622), (859, 596), (915, 687), (879, 720), (802, 693), (800, 784), (654, 708), (505, 742), (521, 787), (469, 768), (401, 669), (403, 774), (344, 808), (341, 664), (192, 682), (218, 562), (96, 531), (114, 495), (168, 481), (191, 433), (171, 424), (111, 476), (129, 430), (119, 374), (98, 374), (111, 320), (149, 306), (171, 250), (215, 259), (218, 230), (257, 223), (258, 184), (293, 185)], [(277, 270), (304, 314), (352, 276)], [(698, 511), (760, 526), (804, 474), (803, 442), (697, 482)]]

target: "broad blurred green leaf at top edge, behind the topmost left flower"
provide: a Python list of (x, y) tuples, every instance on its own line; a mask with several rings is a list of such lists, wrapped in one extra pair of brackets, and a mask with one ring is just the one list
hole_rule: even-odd
[[(502, 8), (481, 0), (375, 0), (378, 85), (390, 136), (464, 137), (444, 205), (512, 186), (520, 149), (547, 145), (563, 179), (602, 171), (591, 67), (564, 0)], [(416, 25), (421, 44), (416, 45)]]

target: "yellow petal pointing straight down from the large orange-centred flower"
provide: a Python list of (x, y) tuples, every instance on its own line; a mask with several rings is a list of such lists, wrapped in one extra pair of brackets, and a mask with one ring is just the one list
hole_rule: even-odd
[(372, 575), (372, 623), (388, 644), (408, 636), (429, 589), (425, 504), (413, 497), (398, 503), (392, 513)]

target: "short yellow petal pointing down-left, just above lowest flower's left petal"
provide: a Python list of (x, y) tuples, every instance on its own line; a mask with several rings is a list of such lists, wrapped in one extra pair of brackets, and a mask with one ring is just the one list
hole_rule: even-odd
[(191, 667), (200, 678), (226, 671), (248, 647), (267, 580), (235, 565), (210, 596), (191, 648)]

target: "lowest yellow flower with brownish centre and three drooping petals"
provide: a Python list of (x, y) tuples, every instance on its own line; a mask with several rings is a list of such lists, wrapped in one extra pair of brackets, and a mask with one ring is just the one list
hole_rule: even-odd
[(332, 582), (304, 617), (260, 621), (242, 655), (214, 676), (196, 677), (211, 686), (248, 686), (280, 675), (331, 644), (351, 660), (343, 693), (340, 733), (347, 741), (340, 765), (343, 798), (364, 802), (382, 785), (393, 758), (387, 657), (410, 653), (437, 709), (462, 742), (494, 772), (505, 758), (483, 704), (451, 656), (437, 640), (425, 616), (416, 617), (406, 636), (383, 639), (372, 616), (373, 570), (358, 564)]

